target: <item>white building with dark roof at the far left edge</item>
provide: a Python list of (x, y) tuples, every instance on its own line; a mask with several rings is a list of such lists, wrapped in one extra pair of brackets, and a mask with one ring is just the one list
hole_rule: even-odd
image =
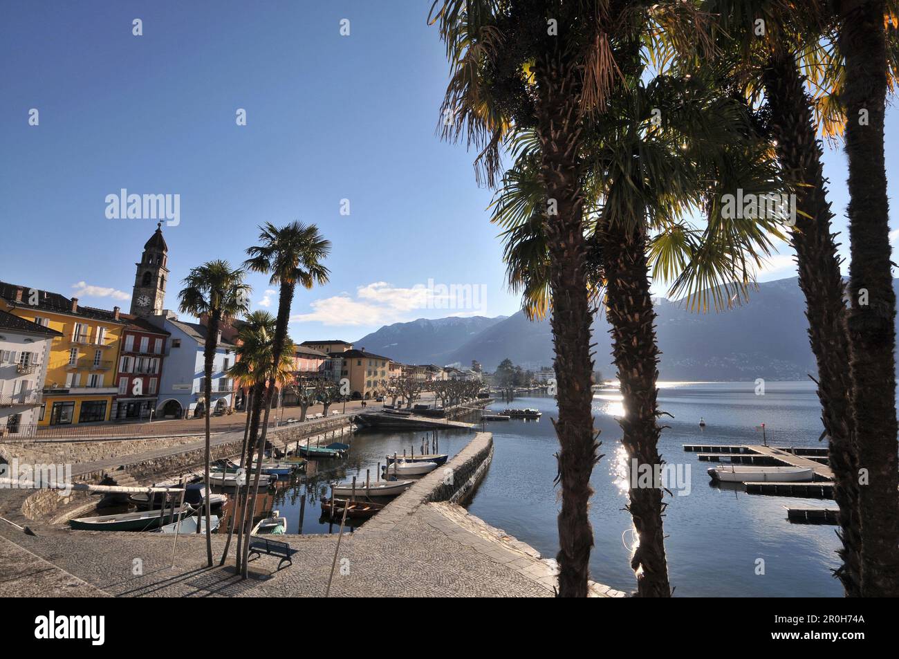
[(0, 437), (33, 434), (56, 330), (0, 311)]

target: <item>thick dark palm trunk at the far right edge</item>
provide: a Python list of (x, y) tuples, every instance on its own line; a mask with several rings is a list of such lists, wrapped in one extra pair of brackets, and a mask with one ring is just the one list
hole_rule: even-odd
[(896, 457), (895, 313), (884, 115), (883, 0), (857, 3), (842, 17), (846, 62), (851, 254), (849, 336), (859, 456), (861, 595), (899, 596), (899, 468)]

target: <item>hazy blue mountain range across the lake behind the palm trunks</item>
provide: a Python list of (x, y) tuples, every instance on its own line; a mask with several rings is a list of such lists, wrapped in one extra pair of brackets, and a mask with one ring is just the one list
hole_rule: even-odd
[[(722, 312), (691, 312), (666, 298), (654, 302), (662, 379), (798, 380), (816, 370), (796, 277), (761, 283), (749, 302)], [(605, 314), (597, 314), (592, 334), (596, 369), (612, 378), (616, 370)], [(420, 318), (386, 325), (355, 346), (404, 363), (468, 366), (476, 360), (486, 370), (505, 358), (531, 370), (551, 366), (553, 359), (549, 321), (532, 322), (521, 311), (508, 317)]]

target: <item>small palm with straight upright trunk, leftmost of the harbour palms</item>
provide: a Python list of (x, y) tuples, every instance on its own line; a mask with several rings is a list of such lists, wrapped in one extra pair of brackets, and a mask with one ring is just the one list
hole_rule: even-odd
[[(209, 261), (193, 268), (183, 281), (178, 294), (179, 310), (192, 316), (206, 316), (206, 340), (203, 346), (203, 375), (206, 411), (206, 444), (204, 474), (209, 484), (209, 413), (212, 405), (212, 363), (218, 348), (218, 330), (223, 321), (249, 310), (250, 287), (244, 283), (244, 272), (234, 270), (227, 261)], [(212, 536), (209, 523), (209, 497), (206, 497), (206, 555), (212, 566)]]

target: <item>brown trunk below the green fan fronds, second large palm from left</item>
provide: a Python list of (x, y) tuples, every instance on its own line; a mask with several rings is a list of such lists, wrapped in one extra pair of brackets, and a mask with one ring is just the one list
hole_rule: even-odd
[(601, 245), (607, 281), (606, 316), (624, 398), (625, 414), (619, 424), (621, 443), (628, 451), (628, 474), (643, 473), (647, 468), (653, 474), (650, 486), (632, 482), (628, 490), (628, 511), (637, 539), (630, 566), (636, 573), (638, 597), (671, 597), (662, 523), (664, 484), (656, 478), (663, 466), (658, 451), (662, 429), (656, 423), (659, 349), (647, 279), (643, 218), (629, 226), (616, 222), (606, 227)]

